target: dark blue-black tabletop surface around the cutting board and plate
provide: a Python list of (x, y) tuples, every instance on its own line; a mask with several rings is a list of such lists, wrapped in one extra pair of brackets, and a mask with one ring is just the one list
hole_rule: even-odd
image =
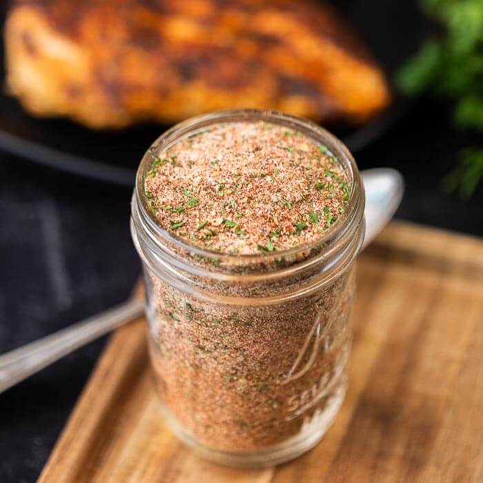
[[(416, 103), (357, 155), (406, 179), (400, 219), (483, 235), (483, 190), (464, 202), (440, 190), (455, 152), (475, 141), (449, 112)], [(83, 181), (0, 153), (0, 353), (117, 304), (139, 275), (130, 189)], [(0, 395), (0, 482), (31, 482), (45, 464), (105, 339)]]

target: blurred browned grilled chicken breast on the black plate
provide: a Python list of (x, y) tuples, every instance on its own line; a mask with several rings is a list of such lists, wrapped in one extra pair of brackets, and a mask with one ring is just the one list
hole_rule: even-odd
[(17, 0), (5, 40), (24, 108), (91, 128), (247, 107), (360, 123), (390, 101), (350, 26), (308, 0)]

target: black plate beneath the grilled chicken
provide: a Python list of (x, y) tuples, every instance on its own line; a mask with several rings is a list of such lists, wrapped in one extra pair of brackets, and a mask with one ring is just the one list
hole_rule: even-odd
[[(1, 2), (2, 6), (5, 3)], [(333, 3), (359, 30), (389, 77), (420, 46), (424, 21), (416, 0)], [(357, 152), (395, 124), (406, 107), (404, 99), (396, 99), (391, 108), (370, 124), (354, 130), (334, 129), (335, 134), (351, 151)], [(65, 119), (36, 119), (24, 112), (15, 99), (0, 94), (0, 148), (29, 161), (117, 184), (132, 185), (144, 151), (167, 127), (146, 124), (97, 132)]]

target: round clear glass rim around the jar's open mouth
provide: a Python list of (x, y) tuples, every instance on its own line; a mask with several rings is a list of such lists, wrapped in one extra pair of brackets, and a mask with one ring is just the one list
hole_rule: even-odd
[[(295, 128), (305, 135), (311, 137), (314, 141), (328, 146), (329, 150), (335, 155), (337, 162), (344, 168), (346, 175), (351, 179), (351, 194), (348, 199), (348, 204), (342, 216), (339, 217), (333, 228), (326, 231), (319, 237), (307, 242), (305, 244), (297, 245), (286, 250), (279, 250), (270, 254), (271, 257), (291, 257), (299, 253), (313, 250), (324, 244), (331, 244), (339, 237), (343, 237), (346, 230), (348, 230), (353, 223), (359, 223), (362, 219), (362, 213), (364, 208), (364, 188), (362, 185), (362, 179), (359, 175), (359, 170), (355, 160), (349, 152), (348, 148), (335, 137), (331, 132), (318, 126), (313, 121), (304, 119), (301, 117), (285, 114), (277, 110), (261, 110), (261, 109), (237, 109), (237, 110), (221, 110), (217, 112), (210, 112), (209, 114), (198, 115), (186, 119), (179, 124), (176, 124), (172, 128), (168, 129), (162, 135), (152, 143), (150, 148), (146, 151), (136, 175), (135, 185), (135, 201), (137, 202), (137, 208), (140, 211), (141, 217), (144, 222), (149, 226), (152, 235), (158, 242), (165, 239), (167, 242), (178, 246), (184, 250), (189, 250), (190, 253), (195, 253), (201, 257), (207, 257), (210, 259), (218, 259), (220, 262), (224, 262), (230, 265), (237, 265), (240, 262), (243, 264), (249, 264), (250, 262), (259, 263), (266, 262), (270, 259), (270, 255), (258, 254), (258, 253), (244, 253), (244, 254), (229, 254), (223, 253), (217, 250), (209, 250), (207, 248), (201, 248), (195, 243), (190, 243), (188, 239), (179, 237), (175, 233), (162, 228), (155, 214), (150, 209), (149, 201), (146, 197), (146, 191), (144, 183), (146, 180), (146, 174), (150, 169), (153, 157), (157, 155), (161, 150), (166, 150), (177, 144), (181, 139), (193, 135), (199, 130), (204, 130), (207, 126), (213, 126), (215, 124), (226, 124), (230, 122), (255, 122), (266, 121), (272, 124), (280, 126), (286, 126), (288, 128)], [(362, 206), (362, 209), (361, 209)], [(162, 242), (161, 242), (162, 243)]]

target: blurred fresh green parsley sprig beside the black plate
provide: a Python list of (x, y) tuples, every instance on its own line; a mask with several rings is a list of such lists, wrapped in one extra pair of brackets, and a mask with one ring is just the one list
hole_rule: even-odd
[[(420, 1), (444, 33), (400, 68), (397, 86), (408, 95), (429, 92), (451, 101), (455, 126), (483, 132), (483, 1)], [(460, 152), (460, 164), (443, 188), (471, 197), (483, 179), (482, 160), (482, 147)]]

